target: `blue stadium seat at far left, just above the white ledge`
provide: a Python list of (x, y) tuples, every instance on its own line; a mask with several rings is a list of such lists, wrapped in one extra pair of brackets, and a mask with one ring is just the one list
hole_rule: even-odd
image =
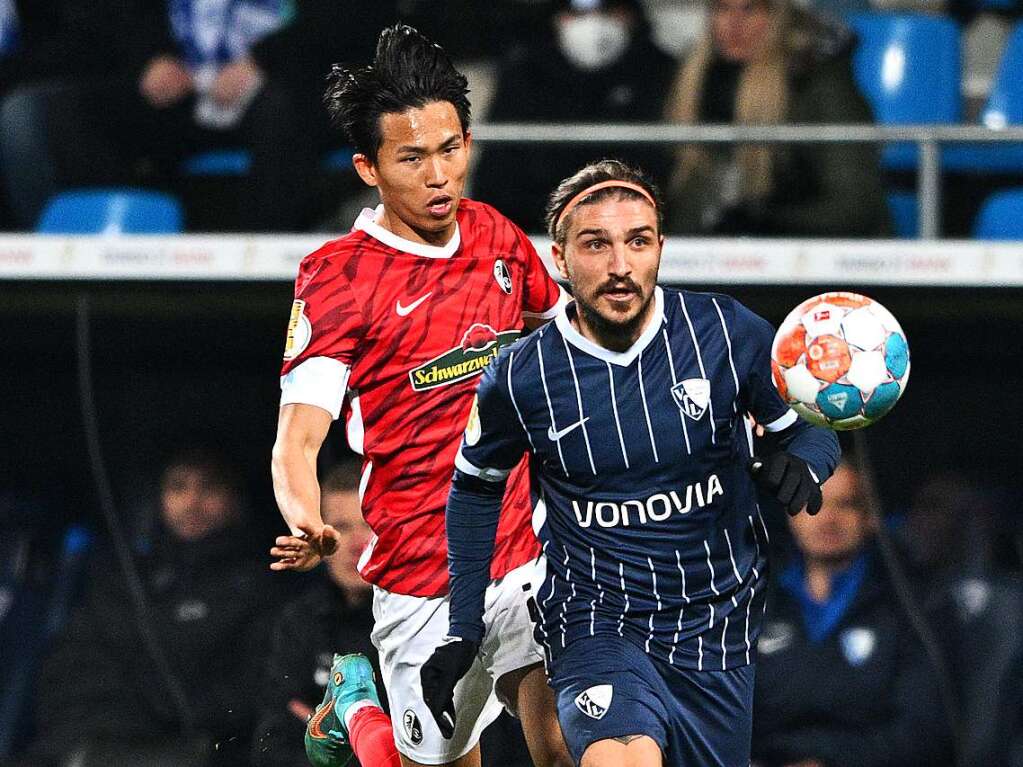
[(43, 234), (166, 234), (180, 232), (181, 204), (143, 189), (78, 189), (46, 205), (36, 231)]

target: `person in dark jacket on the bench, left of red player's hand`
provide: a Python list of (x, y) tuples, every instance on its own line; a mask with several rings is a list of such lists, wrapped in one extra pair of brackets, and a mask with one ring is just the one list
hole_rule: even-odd
[[(251, 540), (251, 544), (250, 544)], [(44, 663), (28, 764), (246, 764), (253, 659), (278, 579), (251, 536), (235, 475), (186, 451), (160, 489), (160, 531), (134, 586), (98, 552), (82, 603)]]

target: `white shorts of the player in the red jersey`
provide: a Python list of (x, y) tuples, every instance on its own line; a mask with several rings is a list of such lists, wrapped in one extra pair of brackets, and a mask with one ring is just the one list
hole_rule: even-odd
[(395, 594), (373, 587), (372, 640), (391, 706), (398, 751), (421, 764), (443, 764), (469, 753), (500, 714), (494, 682), (504, 674), (543, 662), (533, 638), (526, 600), (533, 589), (533, 561), (491, 581), (484, 602), (486, 632), (480, 653), (454, 688), (455, 729), (441, 735), (422, 703), (419, 668), (448, 633), (448, 597)]

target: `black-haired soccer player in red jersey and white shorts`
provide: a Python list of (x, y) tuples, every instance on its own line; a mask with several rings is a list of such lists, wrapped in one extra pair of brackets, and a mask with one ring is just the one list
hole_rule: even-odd
[(327, 689), (338, 695), (324, 702), (336, 718), (318, 711), (313, 734), (337, 725), (374, 767), (396, 763), (395, 743), (405, 765), (478, 765), (480, 732), (501, 705), (521, 718), (536, 764), (571, 764), (526, 608), (539, 548), (525, 463), (508, 481), (487, 636), (456, 691), (457, 726), (439, 729), (419, 686), (447, 633), (444, 506), (476, 384), (525, 321), (552, 317), (561, 302), (526, 235), (462, 197), (466, 93), (444, 51), (400, 25), (382, 33), (371, 65), (336, 67), (328, 108), (382, 205), (302, 262), (287, 328), (272, 468), (292, 535), (277, 539), (271, 567), (308, 570), (338, 544), (320, 518), (315, 469), (343, 414), (365, 456), (362, 511), (374, 536), (360, 572), (374, 587), (372, 638), (394, 722), (374, 693), (346, 689), (343, 677), (362, 672), (339, 666)]

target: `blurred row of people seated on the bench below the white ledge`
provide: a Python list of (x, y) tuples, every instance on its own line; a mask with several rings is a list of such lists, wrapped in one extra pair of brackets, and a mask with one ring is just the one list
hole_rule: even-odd
[[(209, 447), (173, 454), (151, 506), (84, 546), (79, 533), (48, 554), (19, 549), (33, 525), (53, 536), (5, 497), (0, 764), (305, 765), (332, 653), (375, 663), (360, 473), (347, 454), (322, 468), (343, 545), (304, 575), (271, 573), (272, 535)], [(1023, 765), (1023, 536), (1010, 511), (946, 471), (883, 514), (849, 449), (817, 515), (768, 508), (754, 765)], [(506, 715), (483, 743), (487, 767), (530, 764)]]

